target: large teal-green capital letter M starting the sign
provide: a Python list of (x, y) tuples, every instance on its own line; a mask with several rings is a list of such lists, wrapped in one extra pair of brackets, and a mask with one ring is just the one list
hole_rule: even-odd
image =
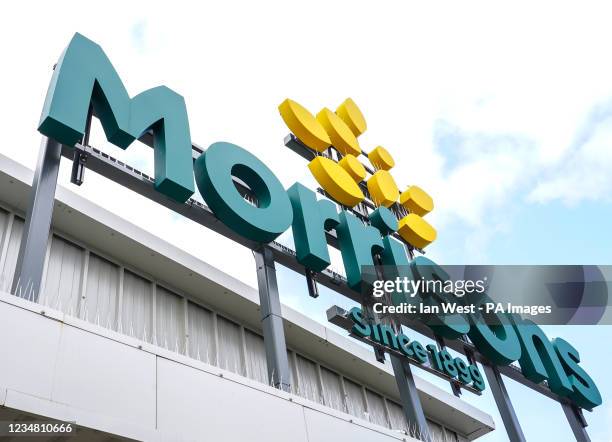
[(122, 149), (151, 130), (155, 188), (180, 202), (193, 195), (191, 137), (183, 97), (159, 86), (130, 98), (102, 48), (77, 33), (55, 67), (38, 130), (74, 146), (85, 133), (90, 103), (108, 141)]

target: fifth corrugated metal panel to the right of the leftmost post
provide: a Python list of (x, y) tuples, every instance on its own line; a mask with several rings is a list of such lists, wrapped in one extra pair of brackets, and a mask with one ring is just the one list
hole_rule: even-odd
[(193, 302), (187, 304), (189, 356), (216, 364), (213, 314)]

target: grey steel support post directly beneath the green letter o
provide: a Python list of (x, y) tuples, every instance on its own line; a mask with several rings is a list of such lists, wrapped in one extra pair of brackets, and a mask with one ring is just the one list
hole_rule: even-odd
[(261, 307), (261, 325), (266, 347), (268, 379), (274, 387), (291, 391), (287, 344), (276, 282), (274, 257), (269, 249), (254, 250), (257, 265), (257, 285)]

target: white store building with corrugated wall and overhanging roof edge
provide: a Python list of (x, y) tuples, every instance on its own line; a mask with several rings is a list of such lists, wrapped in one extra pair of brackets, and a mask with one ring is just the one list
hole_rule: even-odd
[[(0, 420), (87, 441), (416, 440), (389, 364), (283, 306), (292, 392), (271, 387), (256, 289), (61, 186), (40, 296), (10, 294), (31, 181), (0, 156)], [(494, 429), (416, 383), (437, 440)]]

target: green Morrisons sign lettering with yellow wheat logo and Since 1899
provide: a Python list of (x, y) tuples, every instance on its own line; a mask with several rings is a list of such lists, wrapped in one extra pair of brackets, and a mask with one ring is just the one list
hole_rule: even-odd
[[(413, 250), (421, 250), (436, 239), (436, 230), (424, 218), (433, 209), (433, 201), (417, 186), (399, 191), (390, 173), (395, 163), (385, 148), (379, 146), (367, 154), (373, 168), (362, 163), (360, 157), (365, 154), (357, 138), (366, 123), (351, 99), (335, 112), (325, 108), (316, 116), (289, 99), (279, 106), (288, 128), (315, 154), (308, 167), (329, 199), (317, 198), (300, 183), (285, 190), (268, 166), (234, 144), (214, 143), (194, 162), (183, 97), (160, 86), (130, 98), (100, 46), (76, 34), (55, 67), (39, 131), (75, 146), (86, 133), (90, 106), (106, 138), (120, 148), (128, 148), (145, 132), (152, 133), (157, 191), (185, 202), (195, 192), (195, 176), (197, 188), (214, 215), (242, 237), (269, 243), (291, 227), (296, 259), (309, 271), (321, 272), (330, 265), (326, 233), (334, 230), (347, 283), (357, 293), (370, 293), (373, 281), (364, 269), (374, 265), (385, 269), (385, 279), (402, 274), (401, 269), (413, 274), (435, 273), (428, 270), (435, 267), (431, 260), (411, 259)], [(321, 155), (330, 146), (335, 156)], [(236, 178), (250, 190), (250, 200), (238, 192)], [(338, 210), (332, 200), (343, 209)], [(359, 216), (359, 207), (366, 201), (372, 210)], [(379, 262), (374, 262), (373, 256)], [(580, 367), (579, 353), (571, 344), (562, 339), (551, 342), (530, 321), (492, 314), (497, 315), (494, 325), (485, 323), (477, 312), (438, 313), (435, 324), (428, 325), (442, 338), (467, 335), (494, 364), (518, 361), (525, 377), (535, 383), (547, 381), (554, 393), (579, 407), (592, 409), (601, 404), (599, 391)], [(428, 364), (473, 389), (484, 389), (475, 364), (452, 358), (435, 346), (410, 341), (397, 330), (371, 322), (360, 309), (353, 309), (349, 318), (354, 335), (414, 363)]]

